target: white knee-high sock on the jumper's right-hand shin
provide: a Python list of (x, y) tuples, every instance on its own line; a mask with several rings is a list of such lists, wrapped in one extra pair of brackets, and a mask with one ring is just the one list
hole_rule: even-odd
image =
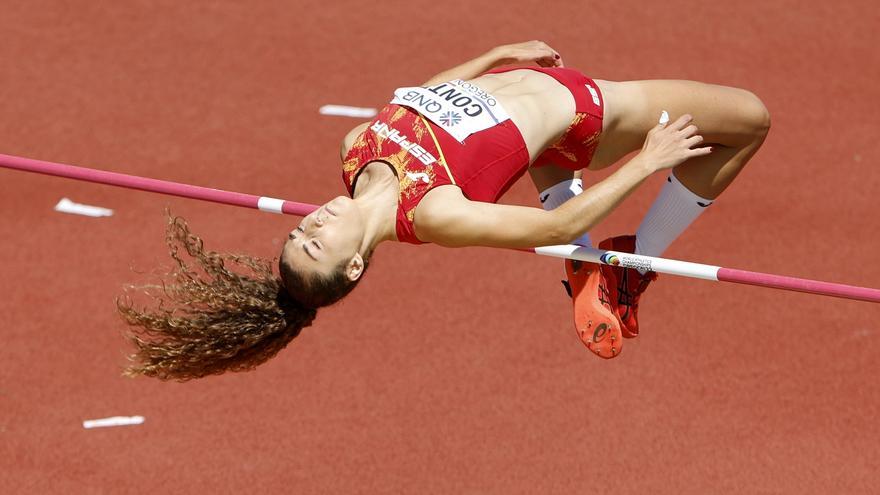
[(663, 254), (712, 201), (697, 196), (670, 173), (636, 231), (636, 254)]

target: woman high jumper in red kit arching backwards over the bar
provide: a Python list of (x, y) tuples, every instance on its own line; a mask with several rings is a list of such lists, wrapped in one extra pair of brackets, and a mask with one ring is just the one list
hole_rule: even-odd
[[(500, 67), (509, 64), (519, 65)], [(742, 89), (590, 79), (564, 68), (540, 41), (493, 48), (395, 90), (373, 121), (345, 136), (349, 196), (289, 233), (280, 277), (268, 261), (205, 250), (183, 220), (171, 219), (177, 269), (156, 295), (160, 304), (118, 304), (137, 346), (127, 373), (187, 380), (254, 368), (310, 325), (318, 308), (351, 292), (385, 241), (589, 246), (593, 226), (648, 176), (670, 170), (636, 234), (598, 244), (659, 256), (730, 185), (769, 128), (763, 103)], [(583, 189), (582, 169), (603, 169), (633, 151), (613, 175)], [(496, 204), (526, 172), (542, 208)], [(621, 337), (638, 335), (639, 298), (656, 274), (570, 260), (565, 270), (581, 339), (601, 357), (618, 355)]]

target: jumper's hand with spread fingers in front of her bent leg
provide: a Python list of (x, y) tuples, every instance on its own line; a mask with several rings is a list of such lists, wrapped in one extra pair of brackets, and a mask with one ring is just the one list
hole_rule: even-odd
[(682, 115), (675, 122), (660, 123), (648, 131), (640, 155), (654, 170), (673, 168), (688, 158), (708, 155), (712, 148), (698, 147), (703, 136), (697, 134), (693, 117)]

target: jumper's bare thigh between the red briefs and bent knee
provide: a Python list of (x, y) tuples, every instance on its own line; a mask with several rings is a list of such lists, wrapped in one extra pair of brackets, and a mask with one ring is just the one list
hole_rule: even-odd
[(591, 169), (640, 149), (663, 110), (673, 120), (692, 115), (706, 143), (731, 147), (748, 145), (769, 125), (761, 100), (744, 89), (678, 80), (596, 84), (605, 100), (605, 118)]

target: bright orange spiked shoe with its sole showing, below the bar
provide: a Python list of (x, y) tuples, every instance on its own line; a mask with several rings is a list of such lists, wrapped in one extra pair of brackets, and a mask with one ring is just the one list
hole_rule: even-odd
[(565, 273), (568, 282), (563, 284), (574, 302), (574, 327), (581, 341), (599, 357), (617, 356), (623, 339), (609, 290), (617, 285), (614, 273), (596, 263), (577, 260), (565, 260)]

